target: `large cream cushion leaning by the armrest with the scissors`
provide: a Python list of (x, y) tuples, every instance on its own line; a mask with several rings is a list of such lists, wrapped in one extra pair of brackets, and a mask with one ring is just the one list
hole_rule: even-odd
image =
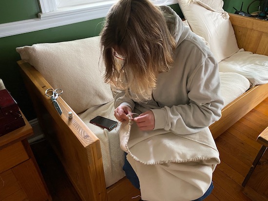
[(63, 90), (61, 97), (76, 113), (113, 100), (110, 86), (102, 77), (99, 37), (34, 44), (16, 50), (54, 89)]

